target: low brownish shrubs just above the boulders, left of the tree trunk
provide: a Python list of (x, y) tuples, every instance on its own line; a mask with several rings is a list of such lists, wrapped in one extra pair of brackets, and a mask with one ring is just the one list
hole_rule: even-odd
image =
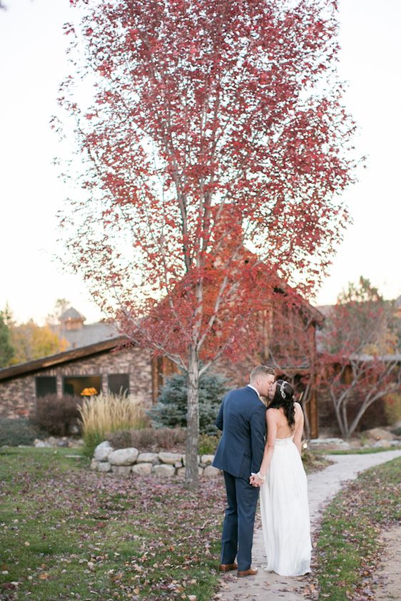
[(143, 430), (129, 430), (111, 433), (107, 440), (113, 448), (127, 448), (133, 446), (139, 451), (155, 449), (170, 451), (177, 446), (184, 446), (186, 431), (181, 428), (143, 428)]

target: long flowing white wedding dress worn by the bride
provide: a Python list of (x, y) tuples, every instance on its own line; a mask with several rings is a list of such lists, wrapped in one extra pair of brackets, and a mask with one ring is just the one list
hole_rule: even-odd
[(260, 513), (268, 558), (265, 570), (282, 576), (310, 572), (308, 484), (293, 436), (276, 438), (270, 468), (260, 487)]

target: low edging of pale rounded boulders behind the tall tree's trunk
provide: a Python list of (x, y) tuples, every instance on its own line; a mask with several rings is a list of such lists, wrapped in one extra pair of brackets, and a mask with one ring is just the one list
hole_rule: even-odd
[[(213, 468), (213, 455), (198, 455), (198, 474), (200, 478), (216, 478), (221, 471)], [(113, 472), (128, 477), (149, 476), (151, 473), (162, 478), (183, 478), (186, 468), (186, 456), (182, 453), (141, 453), (137, 448), (114, 449), (107, 441), (99, 444), (93, 453), (91, 470)]]

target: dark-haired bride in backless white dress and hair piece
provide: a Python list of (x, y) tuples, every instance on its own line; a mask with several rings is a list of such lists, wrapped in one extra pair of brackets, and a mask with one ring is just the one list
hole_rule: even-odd
[(265, 570), (282, 576), (310, 572), (308, 488), (300, 458), (303, 411), (284, 380), (270, 386), (268, 440), (253, 486), (261, 486), (260, 513), (268, 558)]

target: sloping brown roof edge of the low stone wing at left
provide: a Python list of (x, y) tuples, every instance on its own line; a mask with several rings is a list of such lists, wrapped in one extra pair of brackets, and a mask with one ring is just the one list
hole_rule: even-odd
[(19, 363), (18, 365), (13, 365), (11, 367), (4, 367), (4, 369), (0, 369), (0, 381), (30, 374), (34, 371), (41, 371), (41, 369), (49, 369), (49, 367), (62, 365), (70, 361), (76, 361), (77, 359), (83, 359), (87, 356), (111, 351), (111, 349), (115, 349), (117, 346), (126, 344), (127, 341), (127, 337), (120, 336), (110, 340), (102, 340), (95, 344), (88, 344), (88, 346), (80, 346), (78, 349), (71, 349), (56, 355), (41, 357), (40, 359)]

